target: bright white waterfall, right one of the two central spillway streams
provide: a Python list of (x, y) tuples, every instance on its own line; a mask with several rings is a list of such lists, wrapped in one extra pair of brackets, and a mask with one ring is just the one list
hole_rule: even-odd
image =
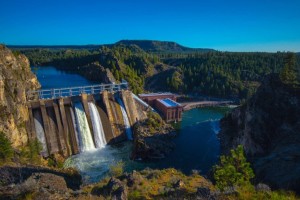
[(96, 148), (103, 148), (106, 145), (106, 140), (99, 112), (94, 103), (88, 102), (88, 106), (92, 119)]

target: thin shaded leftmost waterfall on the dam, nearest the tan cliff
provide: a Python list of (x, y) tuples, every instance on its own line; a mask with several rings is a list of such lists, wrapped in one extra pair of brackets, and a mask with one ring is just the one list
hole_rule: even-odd
[(38, 141), (42, 144), (42, 148), (43, 148), (41, 151), (41, 154), (42, 154), (42, 156), (47, 157), (49, 154), (48, 154), (48, 150), (47, 150), (45, 131), (42, 126), (43, 120), (42, 120), (41, 113), (38, 110), (35, 110), (33, 112), (33, 116), (34, 116), (36, 137), (37, 137)]

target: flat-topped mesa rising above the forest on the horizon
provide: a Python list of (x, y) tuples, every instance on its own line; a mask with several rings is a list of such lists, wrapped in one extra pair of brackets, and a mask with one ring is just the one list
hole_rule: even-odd
[(124, 45), (137, 45), (141, 49), (147, 52), (209, 52), (215, 51), (214, 49), (209, 48), (189, 48), (182, 46), (176, 42), (169, 41), (158, 41), (158, 40), (120, 40), (116, 43)]

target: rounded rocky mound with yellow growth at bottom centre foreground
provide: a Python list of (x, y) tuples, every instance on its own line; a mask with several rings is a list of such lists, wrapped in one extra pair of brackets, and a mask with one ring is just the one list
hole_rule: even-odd
[[(132, 171), (101, 181), (91, 191), (100, 199), (224, 199), (212, 183), (198, 174), (175, 169)], [(90, 196), (91, 197), (91, 196)], [(92, 198), (93, 199), (93, 198)]]

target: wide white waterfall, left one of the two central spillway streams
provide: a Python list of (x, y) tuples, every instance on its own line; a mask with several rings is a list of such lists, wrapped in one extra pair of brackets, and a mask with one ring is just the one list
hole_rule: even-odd
[(81, 103), (75, 103), (76, 128), (78, 131), (78, 140), (80, 152), (95, 149), (89, 124)]

